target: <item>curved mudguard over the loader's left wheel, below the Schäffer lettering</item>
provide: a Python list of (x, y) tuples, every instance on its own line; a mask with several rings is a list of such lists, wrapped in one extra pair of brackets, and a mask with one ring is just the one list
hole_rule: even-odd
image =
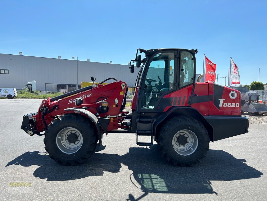
[[(102, 125), (99, 121), (99, 119), (90, 111), (85, 110), (83, 108), (76, 108), (76, 107), (71, 107), (71, 108), (67, 108), (65, 109), (66, 111), (74, 111), (75, 113), (83, 113), (85, 116), (87, 116), (89, 118), (90, 121), (93, 122), (93, 124), (95, 125), (95, 128), (97, 130), (97, 134), (98, 134), (98, 139), (99, 139), (99, 143), (98, 145), (100, 146), (102, 144), (102, 137), (103, 137), (103, 132), (102, 132)], [(105, 117), (105, 119), (108, 119), (107, 117)], [(106, 126), (104, 125), (103, 129), (104, 131), (107, 129), (105, 128)]]

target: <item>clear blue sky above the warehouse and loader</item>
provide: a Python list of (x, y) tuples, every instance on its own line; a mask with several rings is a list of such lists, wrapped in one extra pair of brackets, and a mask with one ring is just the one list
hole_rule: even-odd
[(228, 76), (232, 57), (241, 84), (258, 81), (257, 67), (267, 83), (267, 1), (0, 1), (0, 8), (0, 53), (127, 64), (137, 48), (198, 49), (197, 73), (205, 54)]

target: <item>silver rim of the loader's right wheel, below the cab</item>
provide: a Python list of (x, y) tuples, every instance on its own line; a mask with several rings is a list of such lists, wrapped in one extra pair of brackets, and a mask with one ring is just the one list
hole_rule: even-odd
[[(185, 144), (179, 143), (178, 139), (181, 137), (181, 135), (186, 137), (187, 142)], [(172, 147), (180, 155), (183, 155), (183, 156), (190, 155), (194, 153), (194, 151), (198, 147), (198, 138), (195, 135), (195, 133), (190, 130), (181, 130), (175, 133), (175, 135), (173, 136)]]

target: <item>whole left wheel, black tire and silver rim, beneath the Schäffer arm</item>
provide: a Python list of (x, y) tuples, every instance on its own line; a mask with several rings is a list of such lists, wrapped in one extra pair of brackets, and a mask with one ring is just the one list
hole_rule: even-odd
[[(77, 135), (74, 132), (77, 132)], [(70, 143), (66, 140), (68, 135), (72, 135), (72, 139), (77, 141), (69, 139), (72, 142)], [(93, 154), (97, 145), (97, 134), (91, 122), (85, 117), (65, 114), (49, 124), (45, 131), (44, 144), (50, 158), (62, 165), (73, 166), (86, 161)], [(74, 149), (72, 146), (77, 147)]]

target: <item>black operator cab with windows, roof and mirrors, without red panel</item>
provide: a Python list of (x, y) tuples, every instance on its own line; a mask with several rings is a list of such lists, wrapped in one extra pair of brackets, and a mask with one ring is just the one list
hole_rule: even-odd
[(135, 84), (135, 88), (138, 88), (138, 111), (155, 111), (165, 95), (193, 85), (194, 54), (197, 51), (160, 49), (142, 52), (146, 53), (146, 58), (142, 60), (143, 65)]

